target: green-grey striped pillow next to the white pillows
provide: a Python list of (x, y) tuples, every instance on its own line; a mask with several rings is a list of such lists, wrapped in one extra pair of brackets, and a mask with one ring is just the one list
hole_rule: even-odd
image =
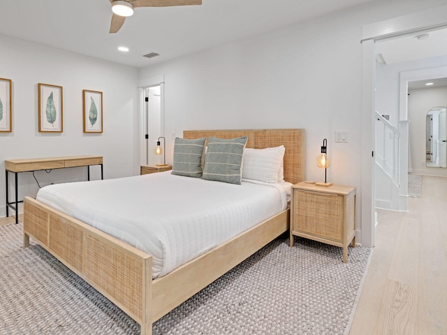
[(242, 157), (247, 138), (247, 136), (242, 136), (224, 140), (210, 137), (202, 179), (240, 184)]

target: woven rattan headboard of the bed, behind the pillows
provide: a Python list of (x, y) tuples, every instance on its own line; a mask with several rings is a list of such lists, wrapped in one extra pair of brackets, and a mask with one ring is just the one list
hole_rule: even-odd
[(224, 131), (184, 131), (183, 137), (234, 138), (248, 136), (247, 148), (264, 149), (284, 145), (284, 179), (293, 184), (305, 180), (305, 130), (304, 129), (243, 129)]

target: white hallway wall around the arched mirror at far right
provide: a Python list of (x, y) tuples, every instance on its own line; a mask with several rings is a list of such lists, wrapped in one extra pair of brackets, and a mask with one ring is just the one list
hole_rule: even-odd
[(427, 168), (425, 166), (427, 112), (434, 107), (447, 107), (447, 87), (409, 89), (409, 94), (408, 118), (411, 120), (409, 132), (413, 173), (447, 177), (446, 168)]

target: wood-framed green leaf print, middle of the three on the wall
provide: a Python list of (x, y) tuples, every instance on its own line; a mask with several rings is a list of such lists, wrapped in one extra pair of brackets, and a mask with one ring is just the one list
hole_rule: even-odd
[(64, 131), (63, 87), (38, 84), (38, 119), (40, 133)]

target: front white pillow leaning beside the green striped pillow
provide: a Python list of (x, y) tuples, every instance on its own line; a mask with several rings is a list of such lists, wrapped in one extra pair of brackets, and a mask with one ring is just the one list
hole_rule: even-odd
[[(242, 179), (277, 183), (285, 151), (284, 145), (265, 149), (244, 149)], [(282, 179), (284, 179), (284, 166)]]

